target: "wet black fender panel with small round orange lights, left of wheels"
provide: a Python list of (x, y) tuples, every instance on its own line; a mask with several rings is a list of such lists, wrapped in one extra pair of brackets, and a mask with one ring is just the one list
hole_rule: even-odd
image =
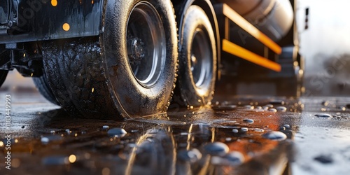
[[(1, 0), (3, 1), (3, 0)], [(1, 20), (0, 43), (98, 36), (106, 0), (5, 0), (12, 5)]]

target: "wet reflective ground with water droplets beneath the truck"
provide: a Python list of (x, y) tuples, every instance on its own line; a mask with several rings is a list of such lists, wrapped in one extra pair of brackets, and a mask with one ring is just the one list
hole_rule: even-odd
[(218, 97), (200, 109), (86, 120), (37, 92), (10, 95), (8, 124), (0, 93), (0, 174), (350, 172), (349, 97)]

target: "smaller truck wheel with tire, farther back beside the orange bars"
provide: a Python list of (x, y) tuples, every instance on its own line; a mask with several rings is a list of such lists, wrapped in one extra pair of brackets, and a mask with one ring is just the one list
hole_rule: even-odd
[(216, 81), (216, 41), (211, 22), (200, 6), (192, 5), (183, 20), (179, 52), (179, 91), (190, 106), (209, 104)]

